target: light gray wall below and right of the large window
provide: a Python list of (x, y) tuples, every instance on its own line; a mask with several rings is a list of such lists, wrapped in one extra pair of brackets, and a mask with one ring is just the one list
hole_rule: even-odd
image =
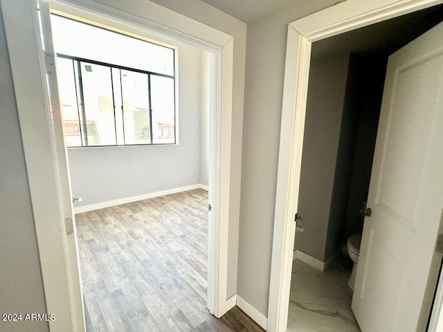
[(68, 149), (73, 194), (82, 196), (81, 205), (200, 183), (200, 53), (179, 46), (179, 145)]

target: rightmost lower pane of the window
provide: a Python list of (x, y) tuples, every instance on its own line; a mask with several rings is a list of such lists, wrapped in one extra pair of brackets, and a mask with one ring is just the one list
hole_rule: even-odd
[(152, 142), (175, 143), (174, 79), (151, 75)]

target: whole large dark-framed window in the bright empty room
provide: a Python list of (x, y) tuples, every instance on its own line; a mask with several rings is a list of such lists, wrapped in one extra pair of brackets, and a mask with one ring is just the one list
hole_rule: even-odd
[(173, 48), (52, 21), (68, 147), (176, 142)]

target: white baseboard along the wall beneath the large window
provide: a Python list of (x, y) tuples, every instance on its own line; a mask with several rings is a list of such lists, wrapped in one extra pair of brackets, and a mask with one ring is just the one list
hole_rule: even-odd
[(201, 184), (188, 185), (186, 187), (179, 187), (179, 188), (174, 188), (174, 189), (170, 189), (170, 190), (162, 190), (161, 192), (150, 192), (149, 194), (143, 194), (143, 195), (132, 196), (132, 197), (125, 197), (124, 199), (114, 199), (113, 201), (106, 201), (106, 202), (102, 202), (102, 203), (75, 206), (74, 213), (89, 212), (89, 211), (93, 211), (93, 210), (109, 208), (110, 206), (132, 203), (132, 202), (136, 202), (136, 201), (143, 201), (143, 199), (153, 199), (154, 197), (176, 194), (177, 192), (187, 192), (188, 190), (194, 190), (194, 189), (199, 189), (199, 188), (204, 189), (204, 190), (208, 190), (207, 189), (208, 186), (206, 186), (206, 185), (201, 185)]

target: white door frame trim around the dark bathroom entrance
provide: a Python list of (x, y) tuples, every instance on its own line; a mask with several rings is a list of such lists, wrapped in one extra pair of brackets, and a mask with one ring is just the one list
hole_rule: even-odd
[[(440, 3), (443, 0), (347, 0), (288, 25), (267, 331), (287, 328), (311, 44)], [(433, 315), (442, 317), (443, 310)]]

